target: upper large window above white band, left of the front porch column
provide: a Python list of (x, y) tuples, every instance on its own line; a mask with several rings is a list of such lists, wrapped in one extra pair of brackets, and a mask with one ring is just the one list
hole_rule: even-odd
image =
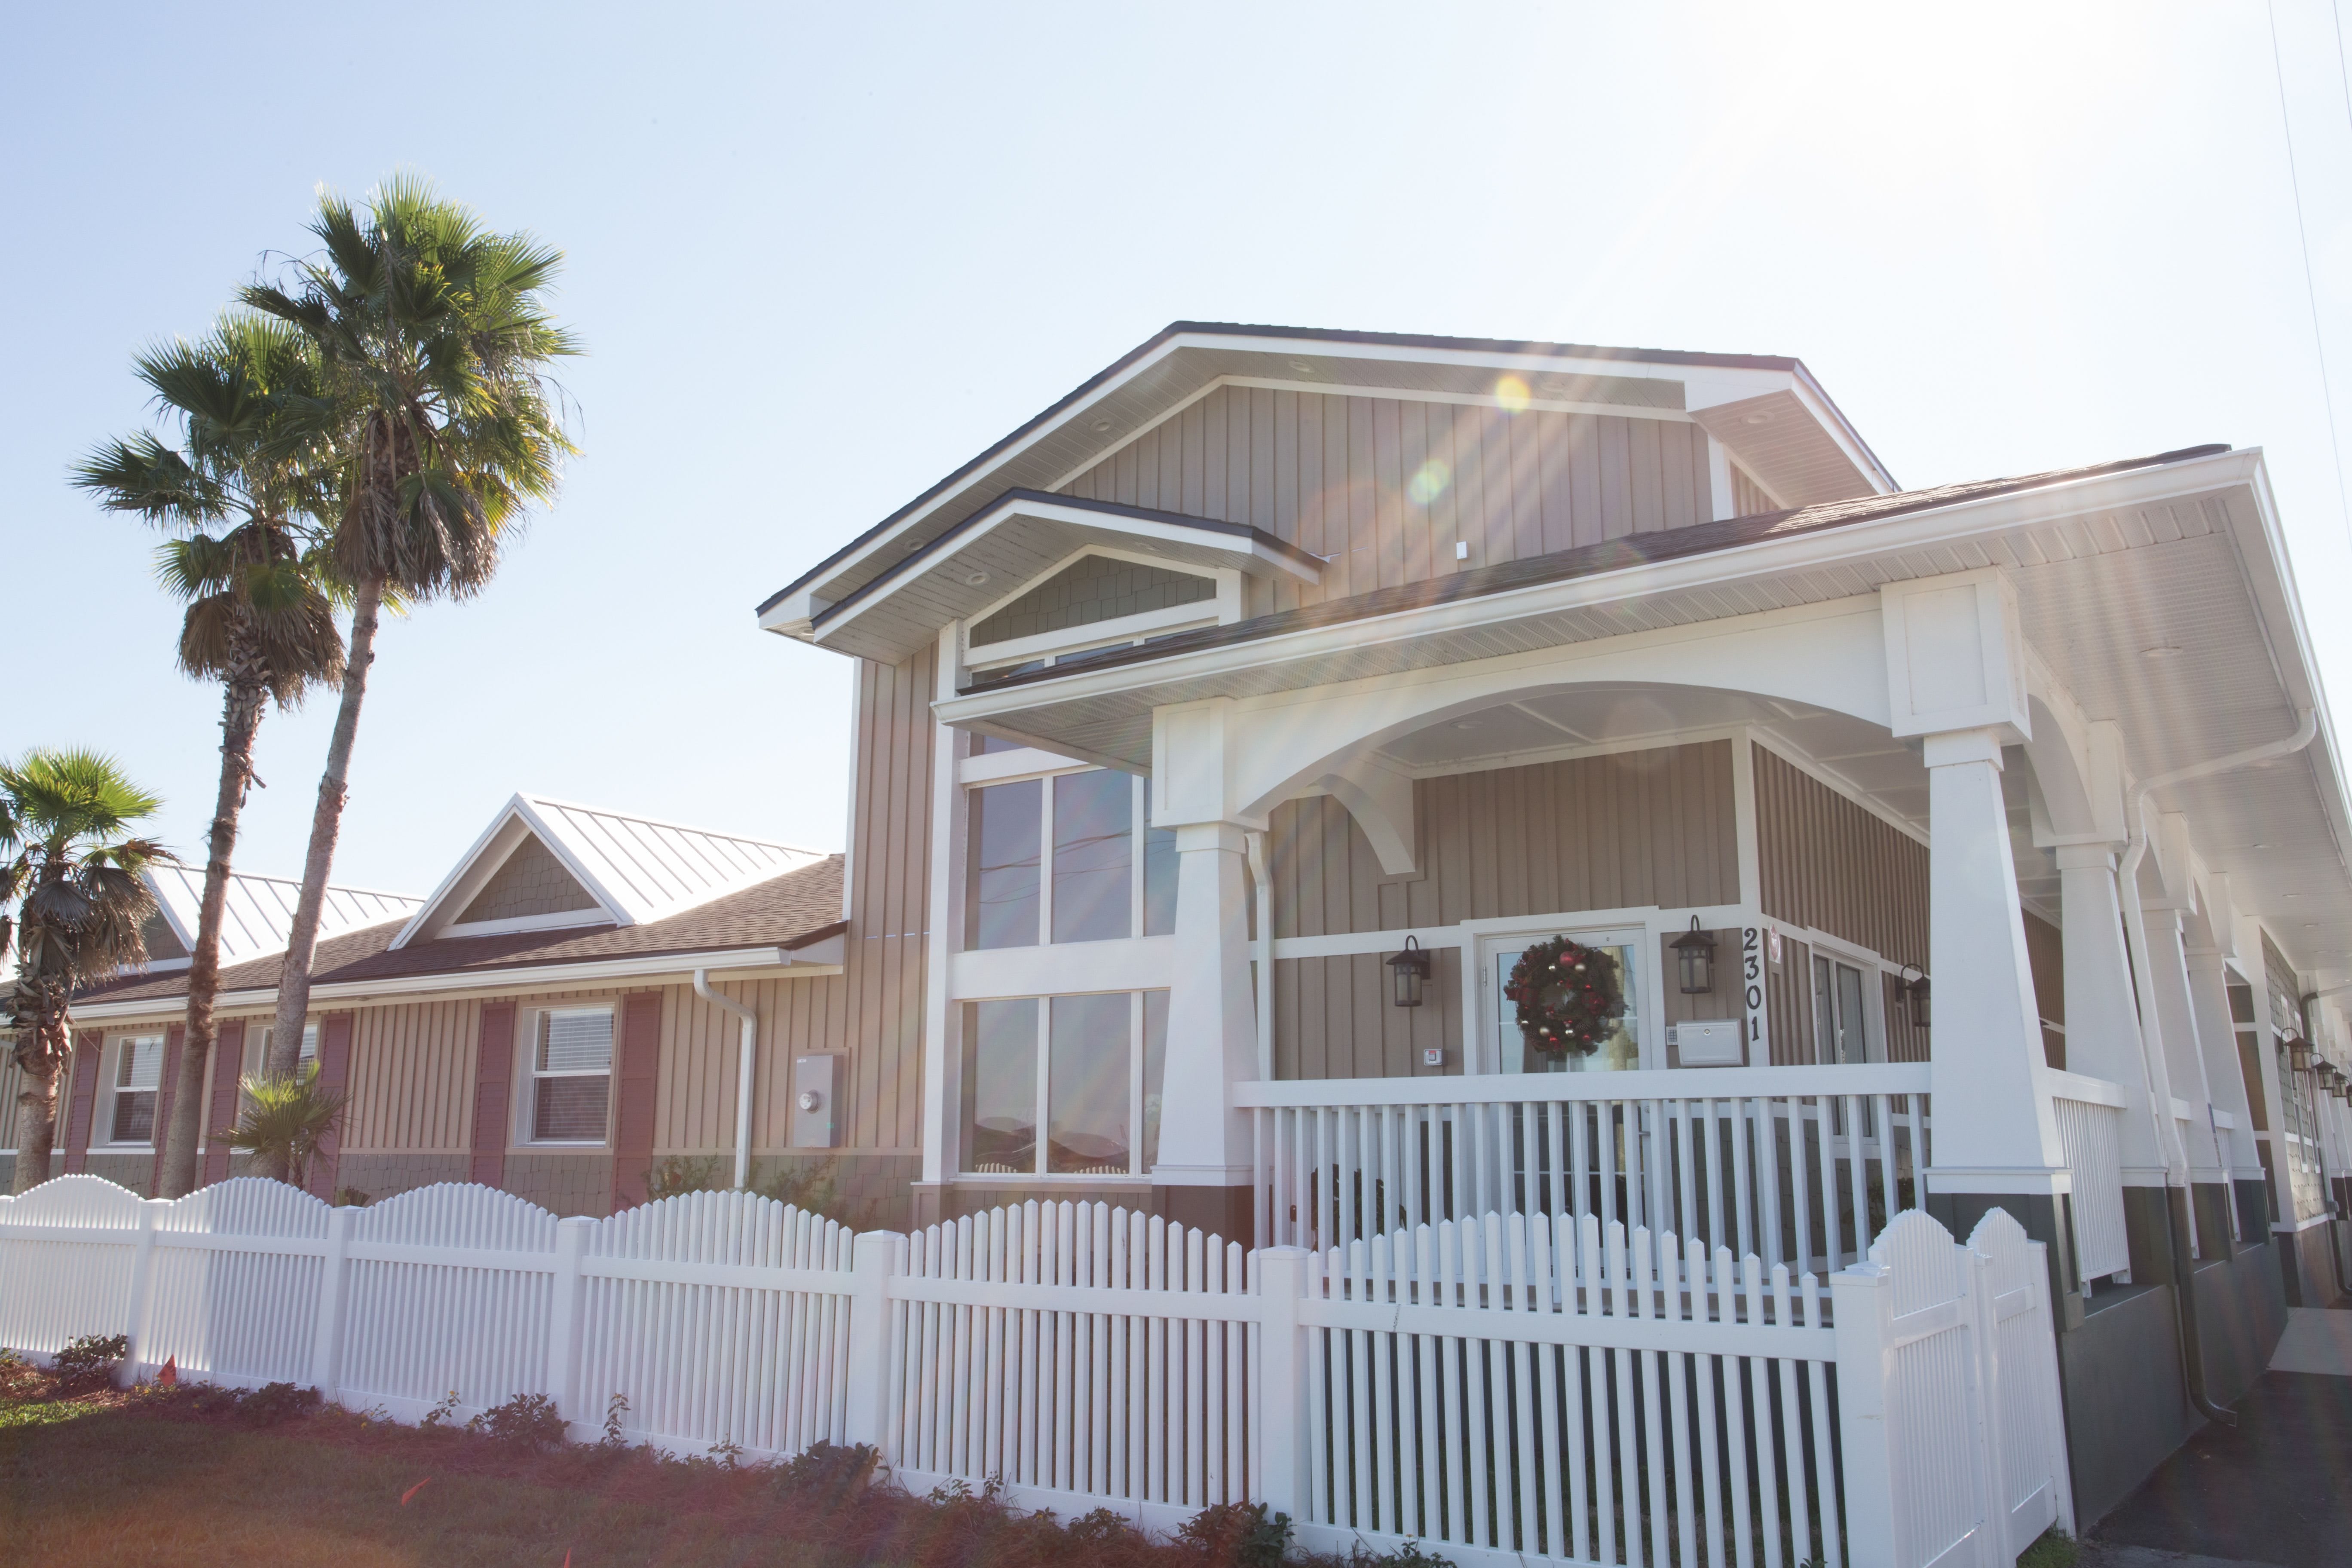
[(1176, 835), (1150, 827), (1145, 780), (1089, 769), (969, 797), (967, 947), (1176, 931)]

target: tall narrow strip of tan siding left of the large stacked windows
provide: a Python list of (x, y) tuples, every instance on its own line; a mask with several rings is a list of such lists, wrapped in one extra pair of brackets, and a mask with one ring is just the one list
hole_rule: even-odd
[(931, 896), (936, 651), (858, 661), (844, 1027), (854, 1150), (922, 1143), (922, 976)]

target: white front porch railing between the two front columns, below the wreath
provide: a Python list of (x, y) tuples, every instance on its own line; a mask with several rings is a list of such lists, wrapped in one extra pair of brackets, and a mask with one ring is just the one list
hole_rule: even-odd
[(1828, 1272), (1915, 1206), (1929, 1065), (1235, 1084), (1258, 1237), (1595, 1215)]

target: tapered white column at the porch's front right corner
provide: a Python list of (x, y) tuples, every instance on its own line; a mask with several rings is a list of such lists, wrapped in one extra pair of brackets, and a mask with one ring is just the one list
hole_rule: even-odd
[(2051, 1199), (2067, 1192), (2070, 1178), (2058, 1119), (2039, 1084), (2042, 1013), (2025, 957), (2018, 870), (2009, 858), (2002, 733), (1926, 736), (1926, 776), (1929, 976), (1936, 985), (1929, 1192)]

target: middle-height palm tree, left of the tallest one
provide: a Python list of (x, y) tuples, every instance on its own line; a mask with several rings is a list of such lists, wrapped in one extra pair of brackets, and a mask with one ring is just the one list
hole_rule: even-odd
[(176, 1199), (195, 1187), (221, 914), (238, 813), (254, 778), (254, 733), (270, 698), (292, 708), (313, 684), (343, 672), (343, 639), (318, 581), (315, 520), (332, 512), (332, 404), (310, 339), (268, 317), (223, 317), (198, 343), (151, 348), (136, 369), (183, 444), (153, 435), (108, 442), (73, 477), (106, 510), (179, 534), (158, 552), (158, 576), (188, 604), (179, 668), (221, 682), (221, 783), (188, 961), (188, 1027), (176, 1065), (167, 1065), (172, 1124), (155, 1182), (155, 1197)]

